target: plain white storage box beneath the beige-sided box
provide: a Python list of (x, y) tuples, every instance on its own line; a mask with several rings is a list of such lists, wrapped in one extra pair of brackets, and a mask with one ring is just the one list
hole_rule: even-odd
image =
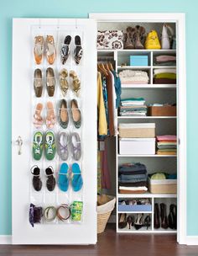
[(121, 155), (154, 155), (155, 138), (122, 138), (119, 139)]

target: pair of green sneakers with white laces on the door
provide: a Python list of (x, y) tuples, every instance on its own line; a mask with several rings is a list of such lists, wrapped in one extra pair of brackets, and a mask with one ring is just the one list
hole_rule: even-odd
[(34, 133), (33, 141), (33, 157), (34, 160), (39, 161), (44, 155), (47, 160), (53, 160), (55, 157), (56, 147), (55, 147), (55, 134), (53, 131), (46, 131), (44, 134), (42, 131), (36, 131)]

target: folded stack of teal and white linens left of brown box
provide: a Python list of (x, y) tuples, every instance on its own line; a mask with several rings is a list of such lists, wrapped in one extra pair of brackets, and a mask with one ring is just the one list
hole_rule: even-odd
[(120, 115), (146, 115), (147, 106), (143, 98), (122, 99)]

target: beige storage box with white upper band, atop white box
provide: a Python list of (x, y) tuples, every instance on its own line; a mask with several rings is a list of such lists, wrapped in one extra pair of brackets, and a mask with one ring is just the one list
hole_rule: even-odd
[(154, 138), (155, 123), (119, 124), (119, 136), (122, 138)]

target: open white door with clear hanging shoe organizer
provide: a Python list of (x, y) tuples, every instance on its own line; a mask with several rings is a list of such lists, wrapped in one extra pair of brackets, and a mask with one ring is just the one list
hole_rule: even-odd
[[(47, 35), (53, 35), (55, 40), (56, 57), (55, 62), (50, 65), (47, 57), (43, 56), (41, 64), (37, 65), (34, 61), (34, 37), (41, 35), (44, 38), (44, 48), (46, 46)], [(70, 35), (70, 56), (63, 65), (61, 63), (60, 50), (64, 44), (65, 36)], [(74, 50), (76, 48), (75, 37), (80, 35), (83, 56), (79, 65), (76, 65)], [(67, 43), (67, 42), (66, 42)], [(77, 42), (78, 44), (79, 42)], [(52, 47), (54, 47), (52, 45)], [(42, 48), (42, 46), (41, 46)], [(54, 49), (54, 48), (53, 48)], [(53, 51), (53, 50), (52, 50)], [(51, 55), (51, 52), (50, 52)], [(55, 93), (49, 97), (46, 88), (46, 69), (52, 67), (55, 72)], [(38, 98), (34, 92), (34, 71), (39, 68), (43, 74), (40, 81), (43, 84), (42, 97)], [(73, 79), (68, 75), (69, 90), (63, 96), (60, 90), (60, 71), (66, 68), (68, 73), (74, 70), (77, 78), (81, 81), (80, 96), (73, 90)], [(70, 78), (69, 78), (70, 77)], [(54, 81), (54, 80), (53, 80)], [(13, 177), (13, 243), (14, 244), (92, 244), (96, 243), (96, 23), (91, 19), (13, 19), (13, 124), (12, 124), (12, 177)], [(67, 101), (67, 110), (69, 115), (69, 124), (66, 129), (60, 126), (60, 100)], [(81, 128), (76, 128), (72, 121), (72, 110), (70, 109), (71, 99), (76, 99), (78, 107), (81, 110)], [(53, 123), (52, 113), (48, 115), (47, 103), (51, 102), (54, 106), (55, 124)], [(32, 153), (34, 134), (38, 129), (34, 126), (35, 108), (38, 103), (43, 106), (42, 121), (39, 131), (43, 133), (43, 141), (47, 140), (46, 132), (49, 130), (46, 126), (46, 120), (50, 118), (50, 130), (55, 135), (55, 157), (53, 160), (47, 160), (44, 149), (41, 159), (35, 160)], [(63, 109), (63, 114), (65, 109)], [(36, 112), (38, 113), (38, 111)], [(73, 113), (74, 114), (74, 113)], [(79, 114), (79, 111), (78, 111)], [(38, 116), (37, 116), (38, 117)], [(37, 118), (36, 117), (36, 118)], [(64, 119), (64, 117), (62, 117)], [(75, 117), (76, 118), (76, 117)], [(79, 116), (77, 117), (79, 120)], [(36, 120), (38, 121), (38, 120)], [(49, 125), (49, 124), (48, 124)], [(67, 160), (61, 160), (58, 154), (60, 131), (67, 132), (70, 139), (73, 132), (80, 136), (81, 147), (79, 143), (73, 145), (81, 150), (81, 158), (77, 159), (72, 155), (71, 142), (69, 144), (69, 157)], [(18, 136), (21, 137), (23, 145), (21, 154), (18, 154)], [(42, 137), (41, 136), (41, 137)], [(20, 139), (18, 140), (20, 143)], [(78, 142), (78, 141), (77, 141)], [(40, 149), (40, 144), (39, 144)], [(77, 157), (78, 158), (78, 157)], [(68, 172), (73, 172), (73, 163), (78, 163), (81, 170), (82, 182), (77, 179), (77, 183), (82, 184), (82, 188), (75, 191), (72, 184), (72, 173), (63, 175), (63, 184), (65, 177), (69, 181), (69, 187), (64, 192), (60, 189), (60, 165), (67, 163)], [(33, 179), (38, 178), (31, 174), (30, 169), (34, 170), (34, 165), (39, 167), (39, 179), (42, 182), (41, 189), (36, 191), (33, 185)], [(54, 177), (56, 179), (55, 189), (49, 191), (46, 186), (48, 177), (45, 175), (45, 169), (52, 166)], [(34, 173), (34, 172), (33, 172)], [(35, 173), (34, 173), (35, 174)], [(67, 183), (67, 182), (66, 182)], [(80, 184), (80, 185), (81, 185)], [(79, 186), (80, 186), (79, 185)], [(38, 187), (37, 187), (38, 189)], [(83, 210), (78, 212), (80, 218), (76, 219), (76, 209), (74, 201), (83, 203)], [(42, 211), (48, 206), (54, 206), (57, 209), (62, 204), (70, 206), (73, 215), (67, 221), (60, 221), (58, 216), (55, 220), (47, 221), (44, 216), (39, 216), (41, 223), (35, 223), (34, 227), (29, 222), (29, 205), (33, 203), (36, 207), (42, 207)], [(34, 208), (35, 210), (35, 208)], [(55, 213), (50, 209), (53, 217)], [(60, 215), (69, 216), (69, 210), (62, 208)], [(77, 221), (81, 220), (81, 221)]]

